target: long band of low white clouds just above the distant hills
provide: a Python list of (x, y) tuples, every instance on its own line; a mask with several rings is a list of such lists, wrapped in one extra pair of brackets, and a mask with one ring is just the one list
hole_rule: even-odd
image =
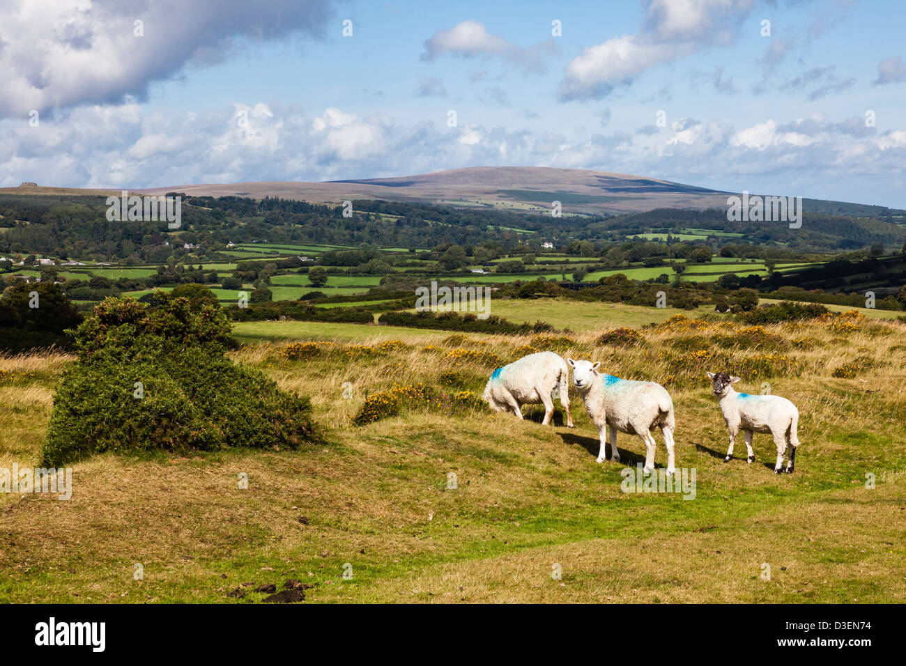
[[(239, 127), (237, 111), (247, 111)], [(593, 111), (589, 121), (593, 121)], [(823, 115), (735, 129), (672, 121), (654, 134), (505, 130), (478, 123), (400, 124), (386, 114), (236, 103), (219, 111), (145, 113), (130, 103), (82, 106), (29, 128), (0, 121), (0, 187), (24, 180), (88, 188), (252, 180), (381, 178), (439, 169), (602, 169), (691, 185), (903, 206), (884, 183), (906, 178), (906, 131)], [(593, 124), (593, 123), (592, 123)], [(599, 126), (600, 127), (600, 126)], [(849, 188), (848, 190), (846, 188)]]

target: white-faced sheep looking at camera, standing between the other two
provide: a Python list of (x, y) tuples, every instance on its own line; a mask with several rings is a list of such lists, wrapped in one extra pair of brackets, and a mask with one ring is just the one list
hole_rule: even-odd
[(617, 430), (630, 435), (638, 435), (645, 442), (646, 472), (654, 469), (654, 448), (656, 442), (651, 435), (652, 428), (660, 428), (667, 447), (667, 475), (676, 472), (676, 460), (673, 454), (673, 431), (676, 430), (676, 418), (673, 412), (673, 400), (670, 393), (653, 381), (623, 380), (613, 375), (598, 372), (600, 362), (573, 361), (566, 359), (573, 368), (573, 382), (579, 391), (585, 410), (598, 428), (601, 450), (598, 462), (605, 458), (604, 426), (610, 432), (611, 459), (620, 460), (617, 449)]

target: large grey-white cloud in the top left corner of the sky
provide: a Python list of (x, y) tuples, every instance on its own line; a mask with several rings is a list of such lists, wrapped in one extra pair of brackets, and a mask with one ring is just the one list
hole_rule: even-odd
[(236, 38), (318, 34), (330, 14), (330, 0), (11, 0), (0, 5), (0, 118), (143, 97), (186, 65), (219, 62)]

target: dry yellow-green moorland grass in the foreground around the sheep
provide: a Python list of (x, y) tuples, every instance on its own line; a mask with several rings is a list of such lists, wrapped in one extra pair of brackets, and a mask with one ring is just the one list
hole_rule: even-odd
[[(626, 310), (622, 322), (614, 314), (605, 325), (631, 324), (634, 316)], [(393, 381), (433, 385), (439, 372), (455, 370), (468, 391), (480, 393), (493, 368), (480, 360), (453, 366), (445, 352), (466, 347), (508, 362), (529, 337), (236, 326), (246, 339), (275, 330), (287, 333), (276, 337), (329, 338), (341, 347), (389, 336), (404, 344), (371, 356), (294, 362), (273, 343), (232, 353), (285, 390), (312, 397), (328, 432), (323, 446), (103, 455), (73, 466), (69, 502), (0, 495), (0, 602), (248, 603), (264, 595), (226, 593), (287, 578), (315, 584), (306, 591), (314, 603), (880, 603), (906, 594), (902, 323), (861, 322), (851, 333), (824, 323), (766, 327), (786, 341), (817, 341), (795, 351), (802, 372), (769, 378), (773, 392), (802, 414), (796, 472), (779, 477), (769, 468), (774, 451), (766, 435), (755, 436), (756, 463), (723, 462), (727, 433), (707, 382), (694, 373), (671, 376), (661, 355), (680, 353), (691, 335), (712, 349), (708, 341), (733, 333), (730, 324), (646, 329), (645, 343), (632, 349), (595, 347), (593, 331), (571, 336), (564, 353), (669, 387), (677, 465), (697, 469), (692, 501), (622, 493), (621, 470), (642, 458), (641, 441), (620, 435), (622, 463), (595, 463), (597, 432), (576, 396), (574, 430), (558, 417), (542, 427), (537, 410), (526, 410), (524, 421), (413, 410), (350, 425), (366, 394)], [(0, 466), (34, 465), (67, 358), (0, 359), (0, 370), (24, 373), (0, 383)], [(863, 370), (853, 379), (831, 377), (857, 360)], [(757, 392), (760, 381), (746, 378), (739, 388)], [(865, 487), (867, 472), (873, 489)], [(457, 475), (455, 489), (449, 473)], [(247, 489), (237, 485), (240, 474)], [(140, 581), (132, 575), (136, 563), (144, 566)], [(763, 563), (772, 567), (769, 581), (760, 578)], [(342, 579), (346, 564), (350, 580)], [(562, 567), (562, 580), (551, 577), (553, 565)]]

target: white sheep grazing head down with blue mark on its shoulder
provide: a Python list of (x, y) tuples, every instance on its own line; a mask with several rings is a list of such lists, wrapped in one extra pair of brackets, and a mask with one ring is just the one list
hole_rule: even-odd
[(522, 405), (545, 405), (548, 425), (554, 416), (554, 392), (560, 389), (560, 404), (566, 410), (567, 427), (573, 428), (573, 413), (569, 409), (569, 368), (554, 352), (537, 352), (523, 356), (502, 368), (497, 368), (487, 381), (481, 396), (492, 410), (512, 410), (521, 420)]

